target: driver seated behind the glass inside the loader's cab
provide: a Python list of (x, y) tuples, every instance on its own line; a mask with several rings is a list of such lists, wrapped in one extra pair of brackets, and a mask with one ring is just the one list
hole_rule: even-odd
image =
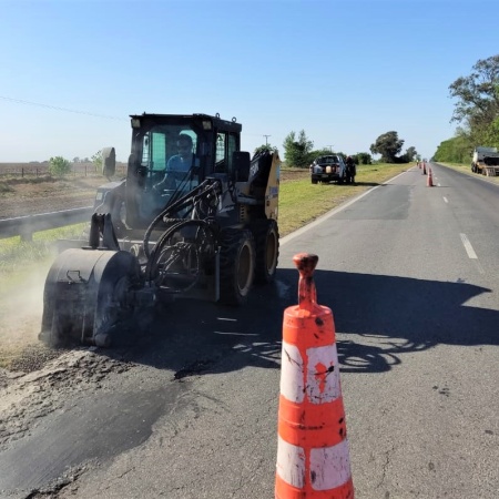
[(179, 154), (170, 157), (163, 180), (154, 185), (155, 191), (175, 190), (182, 184), (191, 190), (198, 184), (200, 159), (193, 152), (191, 135), (181, 133), (176, 147)]

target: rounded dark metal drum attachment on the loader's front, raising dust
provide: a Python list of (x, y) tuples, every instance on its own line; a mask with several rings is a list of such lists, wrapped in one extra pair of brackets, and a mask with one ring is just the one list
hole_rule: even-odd
[(139, 283), (139, 261), (131, 253), (67, 249), (45, 279), (39, 338), (53, 347), (109, 346), (110, 329), (133, 310)]

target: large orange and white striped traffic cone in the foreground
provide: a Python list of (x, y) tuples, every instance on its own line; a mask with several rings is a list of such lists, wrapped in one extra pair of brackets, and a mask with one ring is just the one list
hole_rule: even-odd
[(313, 278), (318, 256), (293, 261), (298, 305), (284, 312), (275, 498), (354, 499), (334, 318)]

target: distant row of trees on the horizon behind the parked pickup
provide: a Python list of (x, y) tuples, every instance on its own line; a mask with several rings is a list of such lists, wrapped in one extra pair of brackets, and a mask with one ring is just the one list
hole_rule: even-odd
[[(398, 133), (395, 131), (386, 132), (379, 135), (375, 143), (370, 145), (371, 154), (379, 154), (381, 163), (410, 163), (411, 161), (419, 160), (416, 147), (410, 146), (404, 154), (400, 154), (404, 140), (398, 138)], [(308, 167), (308, 165), (318, 156), (327, 154), (338, 154), (343, 157), (347, 157), (342, 151), (333, 152), (330, 149), (317, 149), (314, 150), (314, 142), (307, 138), (305, 130), (298, 133), (292, 131), (284, 139), (284, 161), (288, 166), (295, 167)], [(255, 153), (261, 151), (277, 151), (277, 147), (271, 144), (263, 144), (255, 149)], [(356, 164), (371, 164), (373, 156), (367, 152), (360, 152), (355, 154), (348, 154), (352, 156)]]

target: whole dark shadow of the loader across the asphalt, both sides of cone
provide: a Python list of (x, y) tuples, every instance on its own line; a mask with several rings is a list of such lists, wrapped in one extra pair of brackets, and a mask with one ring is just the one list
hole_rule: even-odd
[[(142, 333), (125, 356), (173, 369), (176, 379), (246, 366), (278, 368), (283, 313), (297, 303), (297, 282), (296, 271), (279, 269), (277, 282), (256, 288), (241, 308), (177, 301), (139, 320)], [(466, 305), (490, 289), (328, 271), (316, 271), (315, 282), (318, 303), (333, 309), (344, 373), (387, 371), (404, 354), (439, 344), (499, 345), (499, 312)]]

